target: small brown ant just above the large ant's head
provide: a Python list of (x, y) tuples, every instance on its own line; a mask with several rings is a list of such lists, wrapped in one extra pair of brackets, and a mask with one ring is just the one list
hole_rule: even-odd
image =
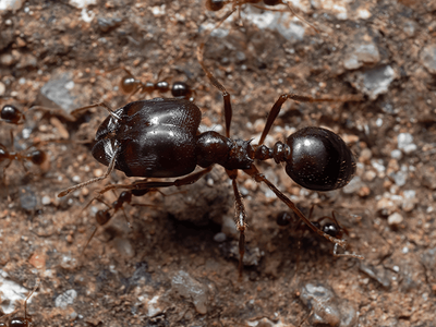
[(129, 97), (132, 97), (136, 93), (146, 93), (146, 94), (152, 94), (155, 90), (158, 90), (159, 93), (167, 93), (171, 88), (171, 95), (174, 98), (184, 98), (184, 99), (191, 99), (193, 100), (193, 95), (195, 95), (195, 90), (191, 88), (186, 83), (184, 82), (174, 82), (172, 83), (172, 87), (170, 87), (170, 84), (166, 81), (161, 82), (146, 82), (143, 83), (140, 80), (136, 80), (135, 76), (125, 68), (122, 68), (122, 70), (125, 72), (125, 76), (123, 76), (120, 81), (120, 88), (123, 94), (129, 95)]

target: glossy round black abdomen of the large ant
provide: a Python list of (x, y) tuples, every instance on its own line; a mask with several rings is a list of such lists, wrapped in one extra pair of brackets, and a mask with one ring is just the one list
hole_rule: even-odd
[(287, 140), (291, 154), (286, 171), (298, 184), (314, 191), (347, 185), (355, 172), (355, 160), (346, 143), (322, 128), (302, 129)]

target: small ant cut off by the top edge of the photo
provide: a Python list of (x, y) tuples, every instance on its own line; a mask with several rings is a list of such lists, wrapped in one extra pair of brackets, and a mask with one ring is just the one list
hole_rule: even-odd
[[(270, 5), (270, 7), (276, 7), (279, 4), (284, 4), (288, 7), (288, 10), (295, 16), (298, 17), (300, 21), (304, 22), (305, 24), (307, 24), (311, 28), (313, 28), (316, 33), (318, 33), (318, 29), (313, 26), (311, 23), (308, 23), (306, 20), (304, 20), (303, 17), (301, 17), (300, 15), (298, 15), (295, 13), (295, 11), (292, 8), (292, 4), (290, 4), (290, 0), (205, 0), (205, 4), (206, 4), (206, 9), (208, 11), (220, 11), (221, 9), (225, 8), (226, 4), (231, 3), (232, 8), (230, 11), (228, 11), (223, 17), (218, 22), (218, 24), (215, 26), (215, 28), (218, 28), (219, 25), (221, 25), (228, 17), (230, 17), (237, 10), (239, 10), (239, 14), (241, 13), (241, 7), (245, 3), (250, 3), (251, 5), (262, 9), (262, 10), (269, 10), (269, 11), (281, 11), (281, 10), (276, 10), (276, 9), (271, 9), (268, 7), (262, 7), (258, 5), (257, 3), (259, 2), (264, 2), (265, 5)], [(214, 28), (214, 29), (215, 29)]]

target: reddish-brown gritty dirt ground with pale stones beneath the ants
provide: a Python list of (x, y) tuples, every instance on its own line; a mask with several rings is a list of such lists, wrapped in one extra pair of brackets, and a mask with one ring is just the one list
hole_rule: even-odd
[[(307, 191), (274, 160), (256, 165), (305, 213), (314, 207), (311, 219), (335, 211), (347, 251), (364, 259), (335, 257), (334, 244), (296, 220), (278, 226), (286, 205), (240, 173), (249, 217), (242, 279), (233, 195), (221, 167), (193, 185), (134, 197), (84, 251), (96, 213), (107, 208), (95, 201), (84, 209), (95, 191), (135, 179), (117, 171), (58, 198), (106, 171), (90, 149), (107, 111), (92, 109), (71, 122), (28, 108), (69, 112), (98, 101), (119, 108), (159, 96), (123, 95), (124, 73), (114, 69), (124, 66), (144, 82), (186, 82), (202, 130), (223, 132), (221, 94), (195, 53), (231, 8), (208, 12), (203, 0), (89, 2), (81, 9), (81, 1), (25, 1), (15, 12), (0, 11), (0, 105), (26, 114), (22, 125), (0, 122), (0, 143), (48, 155), (41, 167), (25, 162), (27, 172), (12, 162), (1, 183), (4, 313), (15, 307), (13, 316), (22, 316), (39, 280), (27, 303), (34, 326), (436, 326), (435, 1), (293, 1), (318, 32), (284, 5), (244, 5), (210, 34), (205, 63), (232, 96), (233, 137), (258, 137), (283, 93), (363, 96), (288, 101), (266, 140), (272, 146), (306, 125), (334, 130), (359, 162), (347, 187)], [(105, 202), (117, 196), (107, 192)]]

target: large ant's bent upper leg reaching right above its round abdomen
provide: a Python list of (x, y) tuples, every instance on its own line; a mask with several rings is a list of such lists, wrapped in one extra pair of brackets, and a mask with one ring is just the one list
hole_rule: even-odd
[(277, 116), (280, 113), (281, 106), (286, 102), (286, 100), (291, 99), (296, 102), (335, 102), (335, 101), (361, 101), (362, 95), (346, 95), (338, 98), (313, 98), (308, 96), (302, 96), (298, 94), (282, 94), (277, 101), (274, 104), (271, 110), (268, 113), (268, 119), (265, 123), (264, 131), (262, 132), (262, 136), (259, 140), (258, 145), (262, 145), (265, 141), (266, 135), (268, 135), (274, 121), (276, 120)]

